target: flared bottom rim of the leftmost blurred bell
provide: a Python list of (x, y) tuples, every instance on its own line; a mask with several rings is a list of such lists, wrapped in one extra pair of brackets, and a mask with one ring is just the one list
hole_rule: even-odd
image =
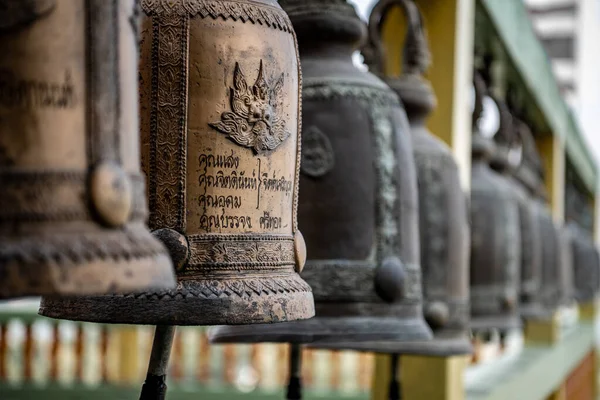
[(171, 259), (142, 223), (2, 240), (0, 299), (164, 290)]

